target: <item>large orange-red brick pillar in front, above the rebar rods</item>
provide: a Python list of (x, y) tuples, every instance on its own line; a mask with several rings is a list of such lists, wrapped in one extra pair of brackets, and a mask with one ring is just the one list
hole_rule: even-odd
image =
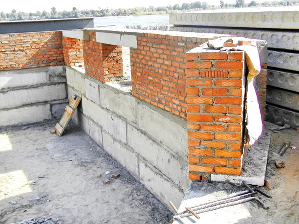
[(243, 51), (186, 53), (189, 178), (240, 175), (243, 158)]

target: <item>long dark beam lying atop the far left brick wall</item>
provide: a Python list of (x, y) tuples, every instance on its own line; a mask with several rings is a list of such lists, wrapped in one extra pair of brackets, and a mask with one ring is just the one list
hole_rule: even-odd
[(47, 19), (32, 21), (0, 22), (0, 34), (50, 32), (93, 28), (93, 18)]

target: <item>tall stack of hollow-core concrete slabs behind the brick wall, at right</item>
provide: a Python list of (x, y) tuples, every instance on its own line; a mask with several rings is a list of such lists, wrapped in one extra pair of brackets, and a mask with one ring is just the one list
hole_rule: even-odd
[(170, 14), (171, 30), (235, 34), (268, 42), (266, 119), (299, 126), (299, 6)]

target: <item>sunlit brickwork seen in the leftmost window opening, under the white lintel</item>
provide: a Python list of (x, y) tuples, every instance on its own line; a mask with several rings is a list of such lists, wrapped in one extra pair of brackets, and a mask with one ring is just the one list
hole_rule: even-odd
[(80, 39), (62, 37), (63, 58), (65, 65), (74, 66), (83, 62), (83, 43)]

